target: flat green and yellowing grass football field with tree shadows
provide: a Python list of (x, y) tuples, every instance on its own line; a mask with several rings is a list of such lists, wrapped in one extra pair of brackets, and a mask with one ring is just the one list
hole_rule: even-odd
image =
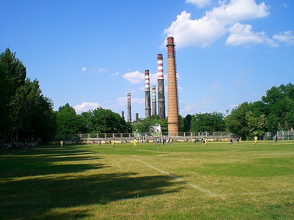
[(0, 219), (294, 219), (294, 141), (0, 152)]

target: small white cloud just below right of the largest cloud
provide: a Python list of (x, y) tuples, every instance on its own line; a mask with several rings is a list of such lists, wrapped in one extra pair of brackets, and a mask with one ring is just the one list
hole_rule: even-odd
[(250, 45), (250, 44), (269, 44), (278, 46), (272, 39), (268, 38), (265, 32), (252, 32), (252, 25), (235, 23), (228, 29), (230, 36), (226, 40), (227, 45)]

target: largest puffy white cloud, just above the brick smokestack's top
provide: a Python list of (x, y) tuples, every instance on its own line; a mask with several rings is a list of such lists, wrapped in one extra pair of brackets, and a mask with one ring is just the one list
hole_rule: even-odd
[(260, 4), (256, 4), (255, 0), (226, 2), (219, 1), (218, 7), (207, 11), (202, 18), (196, 20), (191, 20), (191, 14), (183, 11), (177, 16), (176, 21), (165, 29), (164, 34), (174, 37), (177, 48), (187, 45), (205, 47), (221, 38), (229, 25), (263, 18), (270, 14), (264, 2)]

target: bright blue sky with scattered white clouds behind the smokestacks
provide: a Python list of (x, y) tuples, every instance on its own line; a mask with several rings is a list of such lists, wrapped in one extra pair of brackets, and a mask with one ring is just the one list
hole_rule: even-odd
[(126, 118), (130, 92), (135, 119), (145, 117), (146, 69), (157, 87), (158, 53), (167, 87), (173, 36), (180, 114), (225, 113), (293, 83), (293, 21), (293, 0), (2, 0), (0, 52), (16, 52), (54, 110)]

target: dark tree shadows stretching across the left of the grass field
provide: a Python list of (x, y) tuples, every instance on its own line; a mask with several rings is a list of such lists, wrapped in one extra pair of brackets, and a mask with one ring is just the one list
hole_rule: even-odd
[[(169, 176), (138, 176), (137, 173), (115, 171), (83, 175), (83, 171), (103, 169), (106, 165), (88, 163), (88, 160), (100, 159), (90, 154), (87, 156), (88, 149), (67, 150), (65, 154), (70, 156), (65, 157), (54, 152), (55, 149), (48, 154), (40, 151), (39, 155), (25, 155), (24, 152), (0, 157), (0, 219), (76, 219), (87, 216), (89, 210), (77, 208), (71, 212), (69, 209), (100, 204), (103, 197), (115, 201), (182, 189)], [(86, 161), (79, 163), (81, 160)], [(52, 161), (73, 164), (55, 165)], [(79, 162), (74, 164), (76, 161)], [(59, 175), (61, 173), (63, 175)], [(69, 209), (51, 212), (66, 208)]]

